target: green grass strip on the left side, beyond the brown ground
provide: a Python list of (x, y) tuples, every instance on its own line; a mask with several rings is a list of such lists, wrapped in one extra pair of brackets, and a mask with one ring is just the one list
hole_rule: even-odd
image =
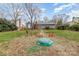
[(0, 32), (0, 42), (9, 41), (25, 34), (25, 31)]

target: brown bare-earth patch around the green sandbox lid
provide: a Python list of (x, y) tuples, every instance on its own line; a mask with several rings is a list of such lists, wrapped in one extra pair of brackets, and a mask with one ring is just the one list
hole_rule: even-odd
[(0, 45), (3, 51), (3, 55), (10, 56), (79, 56), (79, 44), (75, 41), (69, 41), (63, 37), (58, 37), (55, 34), (44, 34), (44, 37), (51, 38), (54, 41), (54, 45), (51, 47), (42, 47), (36, 45), (37, 38), (42, 37), (42, 35), (36, 34), (28, 37), (16, 38), (4, 47)]

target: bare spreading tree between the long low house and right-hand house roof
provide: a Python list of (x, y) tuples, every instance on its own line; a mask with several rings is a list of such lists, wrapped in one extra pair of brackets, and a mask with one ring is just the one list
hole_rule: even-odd
[(69, 16), (66, 14), (57, 14), (53, 16), (53, 22), (55, 24), (61, 23), (61, 25), (66, 25), (68, 22)]

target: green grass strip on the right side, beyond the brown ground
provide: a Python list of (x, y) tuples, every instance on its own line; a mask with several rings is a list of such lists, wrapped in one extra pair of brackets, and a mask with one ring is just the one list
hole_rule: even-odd
[(55, 33), (57, 36), (79, 42), (79, 32), (68, 30), (45, 30), (46, 33)]

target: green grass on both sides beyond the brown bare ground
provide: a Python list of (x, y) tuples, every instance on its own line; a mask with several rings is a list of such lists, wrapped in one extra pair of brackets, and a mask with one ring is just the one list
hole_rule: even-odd
[[(57, 36), (79, 42), (79, 32), (68, 31), (68, 30), (44, 30), (44, 32), (55, 33)], [(0, 32), (0, 42), (9, 41), (13, 38), (17, 38), (25, 34), (26, 34), (25, 31)], [(36, 32), (32, 31), (32, 34), (36, 34)]]

